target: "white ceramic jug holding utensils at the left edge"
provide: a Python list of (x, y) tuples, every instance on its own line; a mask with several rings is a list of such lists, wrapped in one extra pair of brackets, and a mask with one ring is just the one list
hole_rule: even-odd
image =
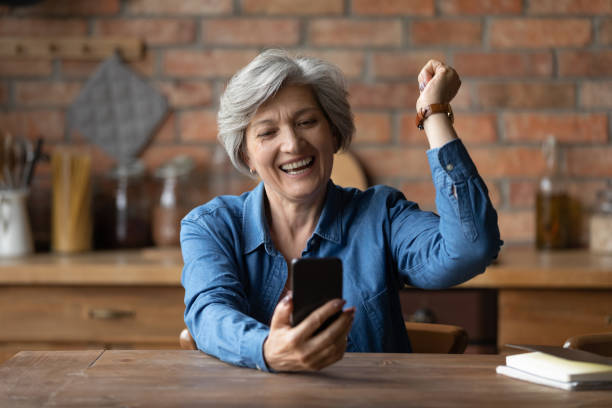
[(26, 207), (27, 190), (0, 190), (0, 257), (34, 250)]

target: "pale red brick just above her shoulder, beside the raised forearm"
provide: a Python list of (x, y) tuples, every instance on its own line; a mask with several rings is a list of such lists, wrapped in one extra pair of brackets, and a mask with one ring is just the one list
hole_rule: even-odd
[(430, 178), (429, 163), (424, 148), (366, 148), (353, 152), (363, 164), (366, 174), (374, 184), (388, 177)]

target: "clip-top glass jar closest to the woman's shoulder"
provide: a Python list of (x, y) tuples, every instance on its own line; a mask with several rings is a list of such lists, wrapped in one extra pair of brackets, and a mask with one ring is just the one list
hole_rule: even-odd
[(180, 222), (189, 211), (185, 202), (187, 178), (193, 160), (178, 156), (158, 168), (155, 177), (161, 181), (159, 200), (153, 208), (153, 242), (157, 246), (179, 246)]

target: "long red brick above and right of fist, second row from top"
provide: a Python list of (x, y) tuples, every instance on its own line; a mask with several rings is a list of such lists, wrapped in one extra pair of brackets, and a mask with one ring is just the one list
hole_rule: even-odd
[(581, 47), (591, 42), (586, 18), (506, 18), (493, 20), (491, 45), (499, 48)]

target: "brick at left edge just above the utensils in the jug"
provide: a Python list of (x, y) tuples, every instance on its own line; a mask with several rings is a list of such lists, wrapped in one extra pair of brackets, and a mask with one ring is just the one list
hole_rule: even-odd
[(35, 140), (64, 138), (64, 112), (52, 110), (0, 112), (0, 129)]

